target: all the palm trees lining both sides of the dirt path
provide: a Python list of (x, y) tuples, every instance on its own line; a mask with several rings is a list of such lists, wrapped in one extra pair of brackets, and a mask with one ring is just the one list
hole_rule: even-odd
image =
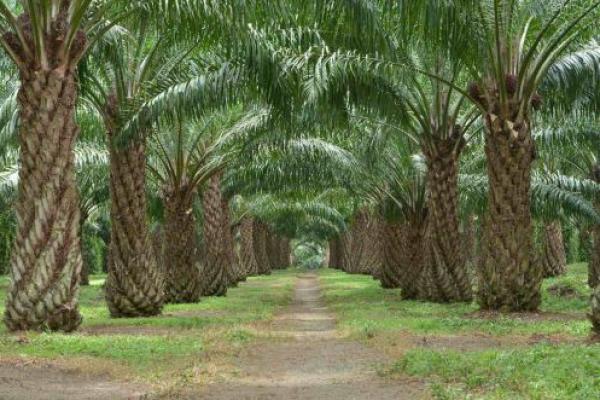
[[(287, 245), (268, 250), (268, 229), (244, 215), (244, 268), (236, 265), (228, 209), (240, 195), (270, 203), (273, 214), (262, 220), (282, 236), (338, 237), (329, 250), (334, 264), (354, 263), (349, 270), (364, 268), (407, 298), (476, 297), (483, 309), (536, 310), (545, 269), (554, 266), (537, 260), (532, 212), (555, 211), (545, 213), (548, 264), (560, 247), (557, 220), (600, 221), (594, 175), (535, 162), (546, 146), (563, 154), (578, 147), (559, 134), (561, 118), (585, 113), (590, 129), (597, 126), (598, 91), (590, 88), (597, 88), (600, 51), (591, 22), (599, 7), (584, 0), (0, 2), (0, 43), (20, 81), (7, 326), (80, 323), (82, 113), (100, 121), (108, 148), (113, 316), (155, 315), (165, 299), (224, 294), (227, 282), (245, 275), (237, 270), (267, 272), (269, 255), (280, 253), (273, 249)], [(164, 205), (157, 251), (147, 172)], [(190, 211), (199, 194), (203, 246)], [(461, 227), (474, 214), (482, 230), (475, 291)], [(381, 232), (385, 246), (375, 252), (365, 241)], [(598, 275), (590, 274), (595, 327)]]

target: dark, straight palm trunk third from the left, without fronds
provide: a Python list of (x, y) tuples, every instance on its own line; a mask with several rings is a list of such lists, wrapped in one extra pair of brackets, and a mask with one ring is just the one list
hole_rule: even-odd
[(195, 190), (183, 186), (164, 191), (164, 254), (166, 296), (171, 303), (195, 303), (202, 295), (198, 266), (196, 218), (193, 202)]

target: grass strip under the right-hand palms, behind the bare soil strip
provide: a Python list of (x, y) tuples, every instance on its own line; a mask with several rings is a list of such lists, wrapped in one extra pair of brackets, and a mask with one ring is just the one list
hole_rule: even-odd
[[(321, 282), (325, 299), (339, 317), (340, 327), (361, 337), (378, 332), (406, 331), (416, 334), (489, 335), (565, 334), (584, 337), (589, 335), (589, 289), (586, 287), (586, 265), (575, 264), (569, 273), (544, 283), (541, 311), (558, 313), (578, 320), (528, 320), (511, 316), (476, 318), (476, 304), (434, 304), (404, 301), (399, 289), (385, 290), (368, 276), (347, 275), (335, 270), (322, 270)], [(558, 297), (548, 291), (556, 283), (574, 288), (574, 297)]]

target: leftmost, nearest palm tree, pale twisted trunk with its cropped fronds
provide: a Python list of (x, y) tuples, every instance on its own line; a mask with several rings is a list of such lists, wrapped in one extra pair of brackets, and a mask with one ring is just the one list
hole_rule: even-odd
[(10, 330), (47, 324), (71, 331), (81, 321), (73, 153), (79, 133), (77, 66), (110, 27), (109, 18), (118, 20), (122, 6), (130, 5), (133, 2), (0, 2), (0, 44), (20, 79), (18, 223), (4, 318)]

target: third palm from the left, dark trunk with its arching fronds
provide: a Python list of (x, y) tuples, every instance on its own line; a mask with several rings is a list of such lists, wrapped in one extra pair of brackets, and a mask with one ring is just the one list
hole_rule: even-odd
[[(175, 129), (152, 137), (153, 157), (148, 168), (163, 193), (164, 251), (170, 255), (169, 265), (166, 266), (169, 301), (195, 302), (202, 294), (204, 278), (197, 265), (196, 220), (192, 210), (194, 199), (206, 182), (222, 173), (232, 158), (239, 155), (245, 141), (260, 134), (268, 116), (268, 109), (249, 108), (240, 111), (239, 107), (231, 107), (207, 112), (195, 122), (177, 124)], [(228, 211), (225, 199), (222, 203), (222, 211)], [(209, 228), (213, 222), (211, 217), (212, 214), (208, 219), (205, 218), (204, 224), (206, 229), (213, 232), (218, 227)], [(224, 226), (230, 225), (227, 218), (225, 214), (222, 221)], [(223, 230), (222, 233), (226, 234), (227, 231)], [(233, 251), (231, 237), (211, 238), (212, 233), (205, 238), (207, 249), (221, 245), (223, 239), (227, 239), (230, 242), (227, 247)], [(215, 252), (211, 250), (209, 253)], [(233, 258), (231, 254), (229, 258)], [(228, 270), (237, 270), (231, 268), (235, 266), (234, 261), (235, 258), (224, 264)], [(207, 264), (208, 260), (203, 262), (204, 271), (212, 268)], [(236, 276), (230, 278), (237, 282)]]

